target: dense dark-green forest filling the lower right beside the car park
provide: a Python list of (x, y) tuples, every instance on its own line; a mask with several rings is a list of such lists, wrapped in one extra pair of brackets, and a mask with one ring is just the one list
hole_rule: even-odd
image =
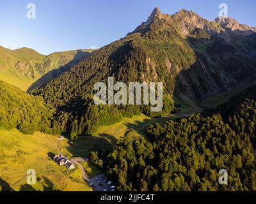
[[(256, 191), (256, 87), (215, 110), (150, 124), (112, 152), (92, 152), (119, 191)], [(228, 185), (218, 183), (228, 171)]]

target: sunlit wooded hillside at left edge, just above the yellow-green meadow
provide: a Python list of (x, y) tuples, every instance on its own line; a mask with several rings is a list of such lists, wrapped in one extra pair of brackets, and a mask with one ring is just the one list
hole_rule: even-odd
[(0, 80), (0, 129), (17, 128), (25, 134), (34, 131), (52, 134), (54, 109), (40, 97), (30, 96)]

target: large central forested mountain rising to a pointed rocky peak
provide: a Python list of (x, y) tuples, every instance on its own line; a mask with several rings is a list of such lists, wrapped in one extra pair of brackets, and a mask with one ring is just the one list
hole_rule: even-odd
[[(193, 11), (168, 15), (156, 8), (132, 33), (30, 93), (59, 110), (61, 131), (90, 135), (128, 115), (170, 113), (175, 110), (173, 96), (200, 105), (204, 98), (234, 89), (256, 74), (255, 42), (254, 36), (227, 33)], [(125, 83), (163, 82), (163, 111), (152, 115), (148, 106), (95, 106), (93, 84), (107, 83), (108, 77)]]

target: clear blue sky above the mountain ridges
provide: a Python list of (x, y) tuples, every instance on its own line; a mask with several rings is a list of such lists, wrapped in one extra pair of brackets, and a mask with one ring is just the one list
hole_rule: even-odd
[[(28, 3), (36, 5), (35, 20), (26, 17)], [(256, 27), (255, 0), (0, 0), (0, 45), (42, 54), (99, 48), (133, 31), (156, 6), (162, 13), (186, 8), (214, 20), (220, 3), (228, 4), (230, 17)]]

